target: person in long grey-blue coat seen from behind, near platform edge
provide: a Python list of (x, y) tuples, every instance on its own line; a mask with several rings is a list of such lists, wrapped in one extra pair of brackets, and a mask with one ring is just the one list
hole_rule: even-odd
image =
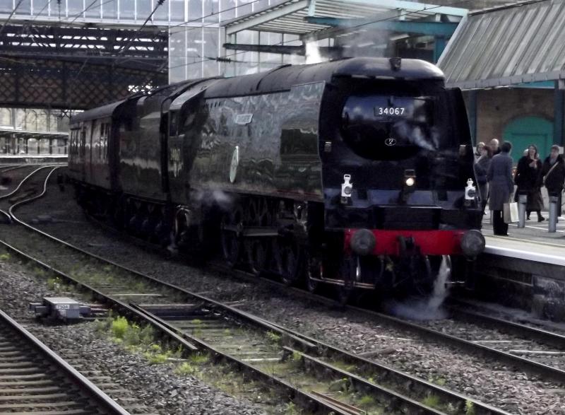
[[(491, 141), (492, 143), (492, 141)], [(504, 141), (501, 152), (492, 158), (487, 180), (489, 182), (489, 208), (492, 211), (492, 227), (494, 235), (508, 236), (508, 223), (504, 222), (502, 211), (504, 204), (509, 203), (514, 190), (512, 179), (512, 144)]]

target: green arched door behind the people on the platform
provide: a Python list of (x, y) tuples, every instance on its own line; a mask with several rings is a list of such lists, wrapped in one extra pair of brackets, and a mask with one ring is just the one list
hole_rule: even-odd
[(515, 164), (530, 144), (537, 146), (543, 161), (553, 144), (553, 123), (541, 117), (517, 118), (504, 127), (502, 138), (512, 143), (511, 156)]

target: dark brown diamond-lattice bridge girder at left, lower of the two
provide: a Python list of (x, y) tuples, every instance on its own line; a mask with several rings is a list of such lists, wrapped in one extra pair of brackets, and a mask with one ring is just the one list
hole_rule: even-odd
[(55, 59), (0, 59), (0, 106), (87, 110), (167, 83), (167, 74)]

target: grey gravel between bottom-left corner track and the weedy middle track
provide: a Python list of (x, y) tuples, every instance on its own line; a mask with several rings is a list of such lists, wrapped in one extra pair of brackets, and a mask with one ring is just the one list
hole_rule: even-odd
[[(28, 303), (53, 296), (47, 284), (19, 264), (0, 261), (0, 309), (24, 325), (44, 344), (87, 377), (108, 377), (116, 387), (107, 394), (132, 414), (261, 414), (250, 402), (228, 396), (191, 375), (179, 376), (172, 365), (149, 365), (103, 339), (95, 322), (43, 325), (28, 312)], [(119, 390), (118, 390), (119, 389)], [(114, 392), (112, 392), (114, 390)]]

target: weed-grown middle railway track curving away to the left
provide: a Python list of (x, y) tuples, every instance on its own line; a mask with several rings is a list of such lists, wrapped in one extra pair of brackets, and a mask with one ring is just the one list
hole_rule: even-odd
[[(459, 414), (471, 405), (475, 414), (506, 414), (53, 238), (14, 213), (38, 197), (8, 209), (15, 224), (1, 241), (7, 249), (80, 285), (120, 312), (145, 319), (185, 349), (221, 356), (309, 411)], [(58, 255), (53, 257), (52, 252)], [(434, 399), (427, 399), (430, 396)], [(432, 400), (434, 407), (423, 403)]]

